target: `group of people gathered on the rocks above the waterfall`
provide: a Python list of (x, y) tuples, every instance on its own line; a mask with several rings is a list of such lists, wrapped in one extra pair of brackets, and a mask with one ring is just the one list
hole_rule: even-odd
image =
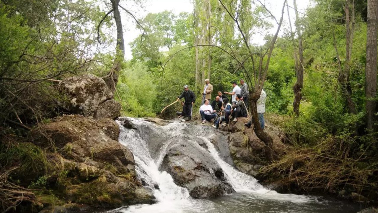
[[(223, 94), (222, 91), (218, 91), (218, 95), (210, 103), (213, 86), (210, 84), (209, 79), (206, 79), (205, 83), (202, 92), (202, 105), (199, 110), (203, 124), (206, 121), (211, 122), (214, 119), (212, 127), (218, 128), (222, 122), (222, 125), (227, 125), (230, 117), (233, 117), (233, 121), (237, 122), (239, 117), (248, 116), (249, 89), (243, 79), (240, 80), (241, 88), (237, 85), (236, 81), (232, 81), (232, 92), (224, 92), (225, 94), (231, 95), (231, 102), (229, 102), (228, 97)], [(186, 121), (189, 121), (192, 118), (192, 109), (196, 97), (194, 92), (189, 89), (188, 85), (184, 86), (184, 91), (177, 100), (182, 98), (185, 99), (185, 101), (181, 102), (183, 111), (182, 113), (178, 112), (178, 115), (183, 116)], [(266, 93), (262, 90), (260, 98), (257, 101), (257, 113), (259, 115), (261, 128), (264, 128), (265, 100)], [(251, 127), (251, 121), (245, 123), (245, 125), (248, 128)]]

